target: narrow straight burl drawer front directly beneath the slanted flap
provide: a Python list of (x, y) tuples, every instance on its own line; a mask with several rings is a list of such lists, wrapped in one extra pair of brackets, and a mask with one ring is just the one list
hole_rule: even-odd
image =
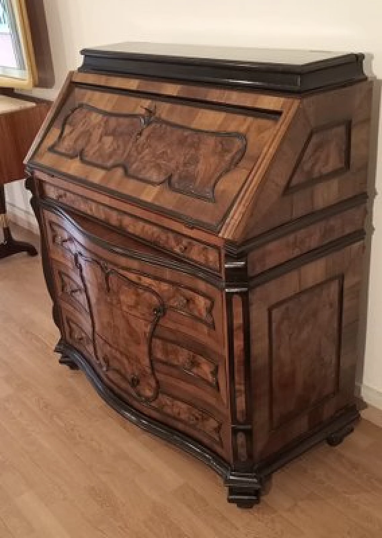
[(129, 235), (143, 239), (177, 257), (193, 261), (215, 272), (221, 271), (220, 251), (216, 247), (197, 242), (181, 233), (144, 221), (135, 215), (118, 211), (49, 183), (43, 183), (43, 193), (60, 204), (116, 226), (128, 232)]

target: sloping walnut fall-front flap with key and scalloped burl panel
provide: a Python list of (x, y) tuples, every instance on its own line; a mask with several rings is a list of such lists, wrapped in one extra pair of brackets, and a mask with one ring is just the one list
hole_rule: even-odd
[(232, 103), (232, 91), (185, 98), (180, 86), (169, 97), (174, 85), (144, 84), (71, 83), (29, 164), (217, 232), (272, 147), (287, 100), (269, 97), (260, 108)]

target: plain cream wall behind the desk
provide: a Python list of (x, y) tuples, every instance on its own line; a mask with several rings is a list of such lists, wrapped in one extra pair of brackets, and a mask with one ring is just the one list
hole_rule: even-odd
[[(237, 46), (319, 48), (374, 55), (382, 79), (381, 0), (44, 0), (56, 83), (34, 94), (54, 98), (84, 46), (146, 40)], [(381, 167), (377, 190), (382, 182)], [(11, 211), (25, 217), (26, 193), (9, 189)], [(27, 216), (27, 218), (31, 218)], [(382, 408), (382, 207), (374, 203), (366, 359), (365, 398)], [(33, 221), (30, 220), (31, 225)], [(362, 365), (359, 378), (362, 378)]]

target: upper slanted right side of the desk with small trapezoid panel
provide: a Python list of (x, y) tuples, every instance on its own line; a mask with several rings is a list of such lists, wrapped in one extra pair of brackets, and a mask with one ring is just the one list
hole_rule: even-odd
[[(366, 81), (304, 98), (251, 201), (247, 206), (232, 209), (232, 212), (236, 212), (235, 230), (227, 225), (221, 233), (240, 242), (357, 194), (366, 193), (371, 95), (372, 83)], [(350, 155), (349, 166), (344, 169), (339, 166), (342, 143), (337, 140), (334, 144), (334, 139), (329, 137), (328, 132), (331, 130), (333, 134), (334, 124), (348, 122)], [(328, 160), (321, 162), (322, 144), (317, 147), (308, 145), (308, 153), (302, 157), (306, 171), (298, 172), (304, 181), (299, 182), (298, 189), (288, 192), (288, 182), (301, 158), (301, 151), (312, 132), (317, 130), (321, 136), (326, 132), (330, 138), (327, 151), (324, 152)], [(339, 131), (337, 139), (338, 136)], [(322, 181), (316, 177), (318, 173), (323, 173)], [(309, 178), (309, 175), (313, 177)], [(228, 222), (231, 222), (230, 219)]]

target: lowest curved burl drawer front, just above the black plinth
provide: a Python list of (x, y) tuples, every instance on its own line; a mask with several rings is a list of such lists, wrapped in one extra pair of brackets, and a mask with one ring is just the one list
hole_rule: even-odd
[[(131, 360), (92, 334), (91, 321), (63, 303), (63, 332), (66, 342), (87, 358), (98, 376), (128, 404), (146, 415), (202, 441), (208, 447), (228, 457), (229, 424), (227, 410), (203, 404), (197, 394), (177, 394), (172, 384), (162, 383), (155, 371), (143, 362)], [(95, 347), (107, 361), (95, 357)], [(188, 398), (188, 400), (187, 400)]]

